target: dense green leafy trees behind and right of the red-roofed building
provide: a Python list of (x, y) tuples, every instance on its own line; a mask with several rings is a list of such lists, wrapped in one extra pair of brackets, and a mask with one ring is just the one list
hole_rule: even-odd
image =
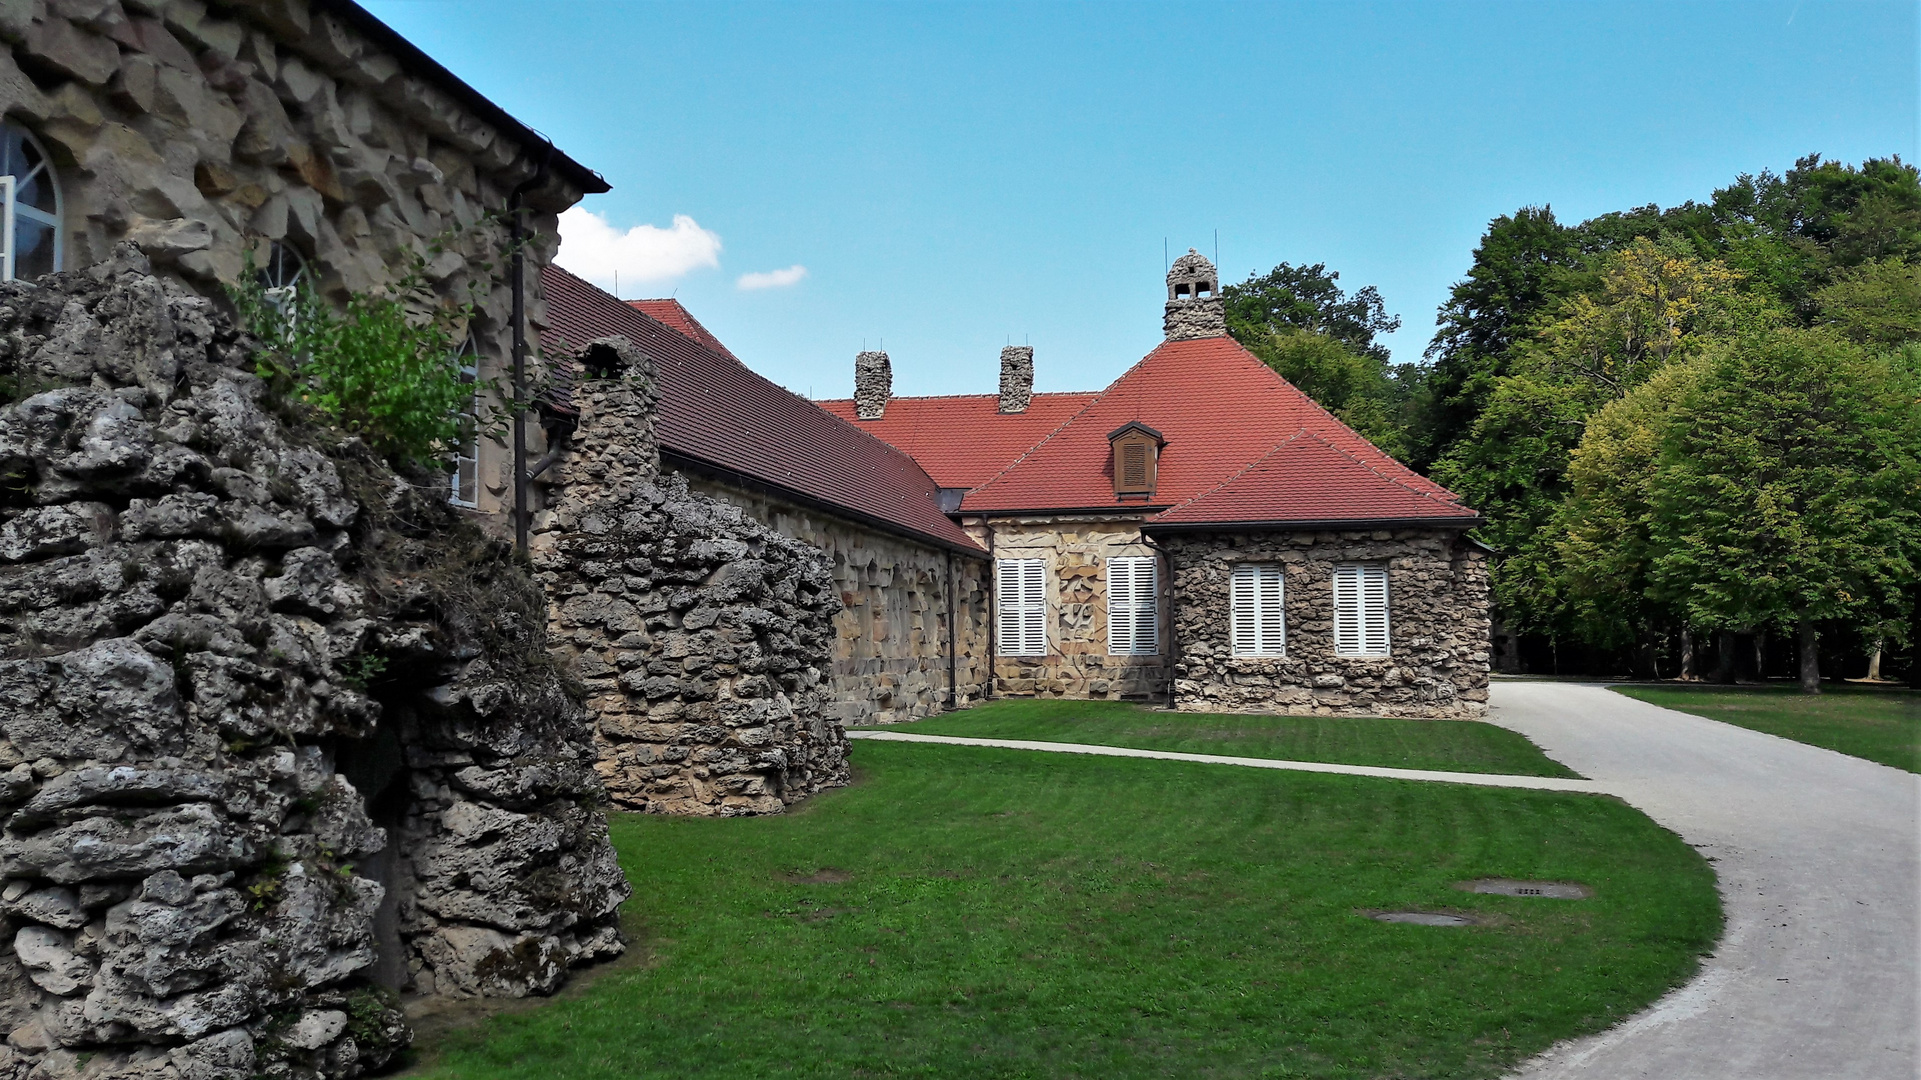
[(1917, 667), (1921, 177), (1900, 158), (1498, 217), (1420, 365), (1389, 363), (1374, 336), (1398, 319), (1324, 265), (1224, 292), (1243, 344), (1487, 517), (1510, 636), (1652, 676), (1765, 673), (1783, 640), (1806, 688), (1823, 655)]

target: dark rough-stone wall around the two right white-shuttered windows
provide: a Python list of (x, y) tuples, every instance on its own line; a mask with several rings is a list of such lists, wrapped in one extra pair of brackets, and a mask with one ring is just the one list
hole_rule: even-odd
[[(1487, 555), (1454, 530), (1164, 536), (1174, 565), (1176, 707), (1343, 717), (1487, 711)], [(1285, 567), (1285, 657), (1235, 657), (1235, 563)], [(1387, 567), (1389, 657), (1333, 655), (1333, 567)]]

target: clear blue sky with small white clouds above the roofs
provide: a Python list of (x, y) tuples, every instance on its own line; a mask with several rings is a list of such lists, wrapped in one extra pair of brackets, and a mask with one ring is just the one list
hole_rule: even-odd
[(1099, 388), (1216, 229), (1226, 281), (1379, 286), (1420, 359), (1495, 215), (1917, 158), (1913, 0), (367, 8), (613, 183), (563, 265), (816, 398), (882, 342), (897, 394), (989, 392), (1009, 340)]

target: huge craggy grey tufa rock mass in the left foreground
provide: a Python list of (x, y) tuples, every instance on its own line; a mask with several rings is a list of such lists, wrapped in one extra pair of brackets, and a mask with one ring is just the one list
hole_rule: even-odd
[(507, 553), (146, 271), (0, 284), (0, 1076), (355, 1076), (382, 972), (619, 951), (584, 713)]

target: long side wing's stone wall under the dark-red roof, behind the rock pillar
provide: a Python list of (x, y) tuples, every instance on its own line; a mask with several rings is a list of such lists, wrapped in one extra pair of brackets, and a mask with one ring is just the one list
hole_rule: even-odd
[(947, 709), (949, 573), (957, 619), (955, 701), (966, 707), (982, 700), (993, 648), (985, 559), (949, 555), (711, 479), (690, 477), (688, 482), (830, 559), (841, 601), (834, 617), (830, 717), (843, 724), (891, 724)]

